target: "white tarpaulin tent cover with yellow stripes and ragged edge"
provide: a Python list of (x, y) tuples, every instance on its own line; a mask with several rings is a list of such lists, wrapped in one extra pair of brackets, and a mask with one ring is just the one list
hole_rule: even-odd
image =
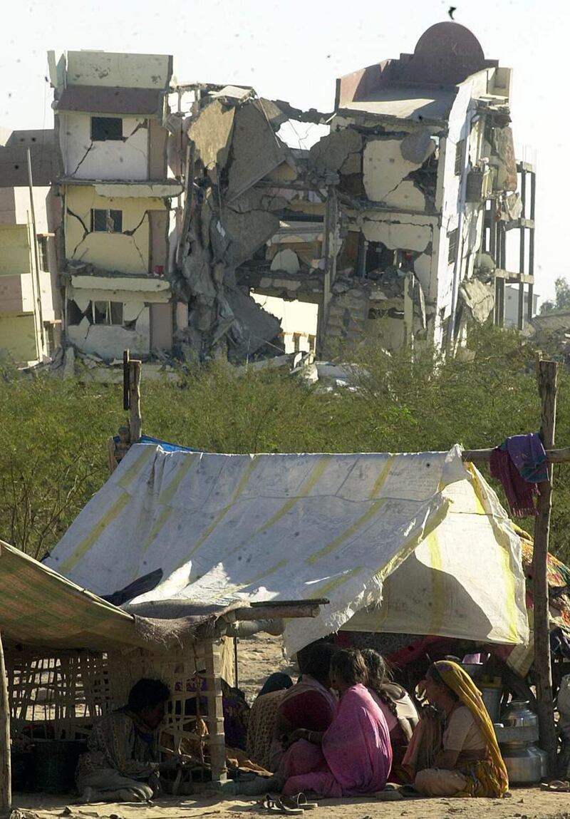
[(289, 651), (354, 615), (357, 629), (528, 638), (518, 536), (459, 447), (213, 455), (133, 446), (45, 562), (99, 595), (160, 568), (159, 585), (133, 603), (328, 598), (319, 618), (287, 622)]

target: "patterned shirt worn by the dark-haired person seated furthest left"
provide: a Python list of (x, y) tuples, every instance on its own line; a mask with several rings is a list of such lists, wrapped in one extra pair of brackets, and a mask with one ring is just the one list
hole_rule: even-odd
[(79, 757), (77, 776), (113, 768), (121, 776), (148, 779), (158, 768), (156, 732), (149, 734), (138, 717), (121, 709), (96, 722), (88, 753)]

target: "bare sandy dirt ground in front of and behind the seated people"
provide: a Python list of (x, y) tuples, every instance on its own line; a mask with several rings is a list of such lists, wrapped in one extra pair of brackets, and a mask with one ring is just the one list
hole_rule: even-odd
[[(275, 671), (294, 675), (283, 658), (280, 641), (256, 636), (242, 640), (238, 649), (239, 686), (251, 702), (265, 678)], [(14, 794), (12, 819), (251, 819), (264, 812), (255, 799), (216, 794), (165, 797), (152, 805), (79, 805), (74, 797)], [(323, 799), (310, 819), (570, 819), (570, 794), (546, 793), (539, 787), (513, 788), (505, 799), (400, 799), (382, 802), (361, 799)]]

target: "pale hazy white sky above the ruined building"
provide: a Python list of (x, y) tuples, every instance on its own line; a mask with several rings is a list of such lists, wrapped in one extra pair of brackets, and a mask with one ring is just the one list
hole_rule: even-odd
[[(535, 292), (547, 298), (568, 263), (564, 199), (568, 145), (567, 0), (453, 0), (455, 20), (485, 56), (513, 69), (518, 159), (536, 165)], [(46, 52), (100, 49), (172, 54), (180, 82), (251, 85), (263, 97), (332, 111), (337, 77), (400, 52), (448, 20), (449, 2), (328, 0), (20, 0), (5, 12), (0, 52), (0, 126), (52, 127)], [(556, 207), (554, 207), (554, 204)], [(518, 269), (512, 257), (509, 269)]]

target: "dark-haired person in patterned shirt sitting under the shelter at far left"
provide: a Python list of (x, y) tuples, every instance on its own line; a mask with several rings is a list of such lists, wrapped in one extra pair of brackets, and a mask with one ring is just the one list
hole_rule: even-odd
[(93, 726), (88, 752), (79, 757), (75, 771), (85, 802), (146, 802), (157, 793), (157, 729), (168, 699), (164, 682), (143, 678), (131, 689), (124, 708)]

